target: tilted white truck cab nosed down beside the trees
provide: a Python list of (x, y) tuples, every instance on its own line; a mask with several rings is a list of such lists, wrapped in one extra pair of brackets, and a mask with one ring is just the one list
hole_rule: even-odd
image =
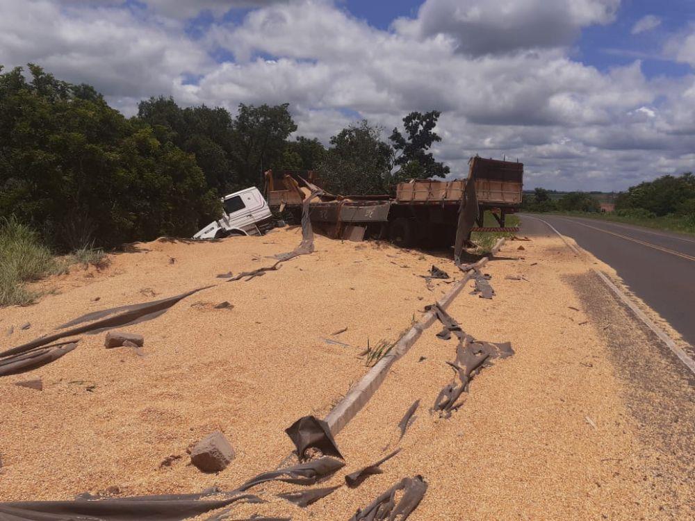
[(222, 217), (193, 235), (194, 239), (262, 235), (274, 227), (268, 202), (255, 186), (225, 195), (222, 198), (222, 206)]

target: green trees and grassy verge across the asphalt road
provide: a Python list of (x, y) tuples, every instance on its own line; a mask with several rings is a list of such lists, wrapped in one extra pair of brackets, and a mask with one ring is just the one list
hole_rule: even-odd
[(613, 212), (600, 211), (600, 201), (594, 193), (556, 193), (536, 188), (524, 193), (523, 210), (541, 213), (579, 215), (607, 221), (637, 224), (649, 228), (695, 233), (695, 176), (691, 172), (680, 176), (661, 176), (631, 186), (614, 197)]

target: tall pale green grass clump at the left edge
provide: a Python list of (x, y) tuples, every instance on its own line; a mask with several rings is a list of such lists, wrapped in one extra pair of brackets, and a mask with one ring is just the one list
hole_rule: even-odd
[(0, 306), (26, 306), (36, 297), (24, 283), (60, 270), (38, 233), (14, 217), (0, 220)]

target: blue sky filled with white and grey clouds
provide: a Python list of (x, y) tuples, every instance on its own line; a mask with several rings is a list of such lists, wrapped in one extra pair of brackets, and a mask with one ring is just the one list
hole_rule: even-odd
[(435, 157), (519, 160), (525, 188), (695, 170), (695, 0), (0, 0), (0, 64), (138, 101), (289, 103), (328, 144), (440, 110)]

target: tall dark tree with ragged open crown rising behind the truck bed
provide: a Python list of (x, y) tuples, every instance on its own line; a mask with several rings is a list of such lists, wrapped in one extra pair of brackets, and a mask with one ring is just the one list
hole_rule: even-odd
[(393, 129), (391, 138), (393, 148), (400, 154), (395, 158), (394, 164), (401, 168), (395, 172), (391, 184), (407, 179), (429, 179), (431, 177), (445, 177), (450, 172), (448, 166), (434, 160), (434, 156), (427, 150), (432, 144), (441, 141), (434, 132), (439, 111), (431, 110), (428, 113), (411, 112), (403, 118), (403, 126), (406, 136), (398, 129)]

